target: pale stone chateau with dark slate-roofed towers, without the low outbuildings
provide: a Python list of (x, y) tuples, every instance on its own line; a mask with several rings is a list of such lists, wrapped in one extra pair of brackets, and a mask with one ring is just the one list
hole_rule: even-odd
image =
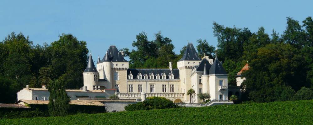
[(192, 43), (188, 43), (183, 57), (177, 62), (178, 69), (129, 69), (129, 63), (115, 46), (110, 46), (103, 59), (98, 58), (96, 67), (89, 56), (84, 71), (84, 87), (87, 90), (115, 89), (119, 98), (161, 96), (174, 102), (189, 103), (189, 89), (195, 90), (193, 103), (201, 103), (198, 93), (209, 93), (210, 100), (228, 100), (227, 73), (218, 58), (199, 58)]

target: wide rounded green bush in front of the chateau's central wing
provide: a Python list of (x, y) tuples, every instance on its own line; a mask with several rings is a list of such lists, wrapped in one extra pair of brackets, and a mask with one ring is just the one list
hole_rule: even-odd
[(135, 110), (179, 108), (179, 107), (180, 106), (176, 105), (175, 103), (164, 97), (148, 97), (143, 102), (138, 102), (135, 104), (129, 104), (128, 106), (125, 106), (125, 110), (135, 111)]

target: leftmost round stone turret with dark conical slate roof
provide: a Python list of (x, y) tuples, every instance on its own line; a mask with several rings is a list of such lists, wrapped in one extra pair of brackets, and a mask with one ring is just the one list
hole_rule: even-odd
[(87, 87), (87, 90), (96, 89), (96, 83), (99, 80), (99, 73), (97, 69), (94, 67), (94, 61), (92, 59), (91, 54), (89, 54), (89, 60), (87, 63), (87, 67), (83, 73), (84, 76), (84, 87)]

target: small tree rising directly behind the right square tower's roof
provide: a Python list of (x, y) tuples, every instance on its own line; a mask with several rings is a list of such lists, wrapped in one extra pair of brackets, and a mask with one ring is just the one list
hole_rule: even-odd
[(198, 39), (197, 42), (198, 42), (198, 45), (197, 45), (198, 55), (200, 57), (205, 55), (205, 56), (209, 56), (210, 58), (213, 58), (211, 53), (214, 52), (215, 47), (210, 46), (206, 39), (203, 41), (202, 39)]

